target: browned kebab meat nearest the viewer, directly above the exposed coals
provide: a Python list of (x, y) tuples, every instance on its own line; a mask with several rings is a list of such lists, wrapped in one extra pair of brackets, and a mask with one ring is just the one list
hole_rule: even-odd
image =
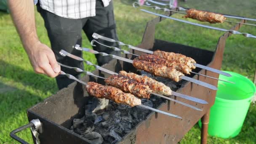
[(104, 86), (99, 83), (88, 82), (86, 89), (91, 96), (95, 96), (100, 99), (110, 99), (116, 103), (127, 104), (131, 107), (141, 104), (141, 100), (133, 96), (131, 93), (124, 93), (120, 89), (112, 86)]

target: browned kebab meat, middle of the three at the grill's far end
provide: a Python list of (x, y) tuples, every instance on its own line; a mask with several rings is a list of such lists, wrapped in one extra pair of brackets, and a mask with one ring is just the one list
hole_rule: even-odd
[(191, 69), (186, 64), (181, 64), (179, 63), (179, 61), (169, 61), (167, 59), (152, 54), (142, 54), (138, 57), (138, 59), (155, 62), (157, 64), (165, 65), (166, 67), (174, 67), (175, 69), (179, 70), (184, 74), (190, 74), (189, 72), (191, 72)]

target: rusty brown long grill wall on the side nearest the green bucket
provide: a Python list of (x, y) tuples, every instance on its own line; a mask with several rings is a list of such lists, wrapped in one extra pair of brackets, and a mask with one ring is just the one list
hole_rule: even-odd
[[(159, 18), (149, 21), (149, 23), (147, 24), (147, 26), (149, 26), (149, 28), (146, 28), (145, 33), (147, 33), (147, 35), (155, 35), (153, 33), (153, 32), (155, 32), (155, 27), (152, 25), (155, 25), (159, 21), (160, 21)], [(156, 23), (154, 24), (153, 22), (156, 22)], [(244, 22), (244, 21), (241, 21), (241, 22)], [(237, 24), (232, 29), (237, 30), (240, 28), (240, 26), (241, 26), (241, 24)], [(209, 64), (207, 64), (208, 67), (213, 67), (215, 69), (221, 68), (225, 43), (226, 43), (227, 37), (229, 37), (230, 35), (231, 34), (229, 32), (226, 32), (224, 35), (222, 35), (219, 38), (219, 41), (216, 46), (216, 51), (213, 54), (213, 56), (210, 57), (211, 62)], [(146, 37), (146, 36), (144, 35), (144, 37)], [(156, 43), (157, 43), (157, 41), (155, 41), (154, 44), (156, 44)], [(162, 47), (160, 47), (159, 45), (154, 45), (154, 46), (163, 50), (162, 49), (163, 45), (162, 45)], [(147, 49), (152, 50), (152, 49), (154, 49), (154, 46), (150, 47), (150, 45), (148, 45), (148, 43), (147, 43), (147, 40), (142, 40), (142, 44), (139, 45), (138, 47), (139, 48), (147, 48)], [(167, 45), (165, 45), (165, 46), (167, 46)], [(181, 47), (169, 47), (168, 51), (177, 52), (176, 48), (181, 48)], [(190, 50), (191, 49), (186, 49), (184, 51), (181, 49), (179, 52), (184, 55), (192, 57), (196, 61), (197, 61), (197, 59), (200, 58), (200, 56), (203, 56), (204, 61), (207, 60), (208, 56), (204, 55), (204, 53), (200, 53), (199, 57), (197, 57), (197, 56), (195, 57), (193, 55), (195, 55), (196, 52), (190, 51)], [(135, 54), (140, 54), (140, 53), (135, 52)], [(197, 62), (200, 63), (202, 61), (197, 61)], [(219, 74), (216, 74), (216, 73), (213, 73), (210, 71), (206, 71), (204, 69), (201, 69), (199, 73), (208, 75), (211, 77), (216, 77), (216, 78), (219, 77)], [(213, 79), (210, 79), (207, 77), (195, 75), (194, 78), (204, 81), (204, 82), (207, 82), (207, 83), (210, 83), (215, 86), (217, 86), (217, 83), (218, 83), (217, 80), (213, 80)], [(216, 91), (210, 90), (208, 88), (204, 88), (200, 85), (196, 85), (196, 84), (193, 84), (190, 82), (187, 83), (184, 86), (184, 88), (180, 88), (178, 90), (178, 92), (184, 93), (184, 94), (187, 94), (190, 96), (195, 96), (199, 99), (205, 99), (206, 101), (208, 101), (209, 104), (207, 104), (207, 105), (195, 104), (191, 101), (186, 101), (184, 99), (175, 97), (175, 99), (177, 99), (179, 101), (186, 102), (187, 104), (195, 105), (199, 108), (202, 108), (203, 112), (196, 112), (195, 110), (188, 109), (187, 107), (183, 107), (183, 106), (176, 107), (176, 104), (173, 102), (168, 102), (168, 103), (162, 104), (159, 107), (160, 110), (169, 111), (173, 114), (179, 114), (181, 117), (183, 117), (183, 119), (177, 120), (172, 117), (166, 117), (165, 115), (152, 114), (148, 117), (148, 119), (146, 121), (140, 123), (140, 125), (137, 126), (132, 133), (129, 133), (123, 139), (123, 141), (121, 141), (120, 143), (122, 143), (122, 144), (177, 143), (197, 123), (197, 121), (200, 120), (200, 118), (203, 117), (203, 115), (205, 115), (209, 111), (211, 106), (214, 104), (215, 96), (216, 96)], [(205, 128), (205, 130), (207, 131), (207, 128)], [(147, 134), (145, 134), (145, 133), (147, 133)]]

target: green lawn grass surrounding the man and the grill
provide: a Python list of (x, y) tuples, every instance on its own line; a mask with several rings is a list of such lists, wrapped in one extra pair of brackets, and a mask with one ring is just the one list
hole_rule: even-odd
[[(141, 42), (147, 21), (155, 16), (132, 8), (131, 3), (131, 0), (115, 0), (117, 33), (119, 39), (124, 43), (138, 45)], [(222, 0), (188, 0), (186, 3), (180, 2), (179, 4), (191, 8), (256, 18), (256, 13), (254, 12), (255, 0), (244, 0), (243, 2), (240, 0), (225, 0), (224, 2)], [(176, 14), (174, 17), (180, 18), (181, 16)], [(236, 21), (235, 19), (231, 20)], [(50, 46), (43, 20), (38, 13), (36, 13), (36, 23), (40, 40)], [(226, 29), (232, 27), (232, 25), (229, 23), (214, 24), (216, 27)], [(243, 26), (239, 31), (256, 35), (255, 27), (251, 26)], [(3, 144), (15, 143), (10, 138), (9, 133), (28, 122), (26, 109), (56, 93), (58, 89), (55, 79), (33, 72), (27, 54), (22, 48), (15, 27), (13, 27), (10, 15), (3, 12), (0, 12), (0, 34), (0, 86), (13, 89), (13, 91), (0, 93), (0, 144)], [(165, 20), (157, 25), (155, 36), (158, 39), (214, 51), (218, 38), (222, 34), (223, 32)], [(90, 47), (85, 35), (83, 37), (83, 46)], [(84, 59), (96, 63), (96, 59), (92, 54), (86, 54)], [(245, 38), (242, 35), (232, 35), (229, 37), (224, 51), (222, 69), (240, 73), (252, 80), (255, 67), (256, 39)], [(86, 69), (92, 71), (93, 67), (86, 67)], [(251, 104), (242, 131), (237, 137), (233, 139), (220, 139), (209, 136), (208, 143), (255, 143), (255, 120), (256, 107)], [(29, 130), (18, 135), (32, 143)], [(199, 142), (200, 128), (198, 125), (195, 125), (180, 143), (195, 144)]]

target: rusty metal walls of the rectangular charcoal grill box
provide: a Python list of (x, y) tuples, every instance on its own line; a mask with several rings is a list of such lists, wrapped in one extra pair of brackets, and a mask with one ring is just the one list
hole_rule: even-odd
[[(227, 37), (229, 37), (229, 33), (225, 33), (219, 38), (219, 42), (214, 53), (186, 45), (155, 40), (155, 25), (161, 20), (163, 19), (156, 18), (147, 24), (148, 27), (146, 28), (144, 39), (141, 45), (139, 45), (140, 48), (179, 52), (194, 58), (199, 64), (208, 65), (216, 69), (221, 68), (225, 41)], [(239, 27), (240, 25), (237, 24), (235, 29), (239, 29)], [(135, 54), (141, 54), (141, 52), (138, 51), (133, 52)], [(132, 66), (132, 64), (115, 59), (110, 61), (108, 64), (105, 64), (103, 67), (115, 72), (119, 72), (120, 70), (136, 72), (136, 69)], [(211, 77), (219, 77), (218, 74), (208, 72), (203, 69), (195, 69), (195, 71), (204, 75), (209, 75)], [(101, 77), (109, 77), (109, 74), (99, 72), (99, 70), (94, 71), (93, 74), (99, 75)], [(210, 83), (212, 85), (217, 85), (217, 80), (197, 75), (194, 75), (194, 78)], [(95, 77), (85, 76), (81, 80), (85, 82), (96, 81), (98, 83), (104, 84), (104, 80), (97, 79)], [(197, 121), (203, 117), (206, 112), (208, 112), (210, 107), (213, 105), (216, 96), (216, 91), (189, 82), (187, 82), (183, 88), (179, 88), (177, 92), (195, 96), (199, 99), (205, 99), (209, 102), (209, 104), (196, 104), (194, 102), (172, 96), (174, 99), (202, 108), (203, 112), (198, 112), (168, 101), (160, 105), (159, 109), (179, 115), (183, 117), (182, 120), (152, 112), (146, 120), (141, 121), (141, 123), (139, 123), (136, 128), (133, 129), (133, 131), (128, 133), (122, 139), (122, 141), (120, 141), (120, 143), (177, 143), (193, 127), (193, 125), (195, 125), (195, 123), (197, 123)], [(90, 141), (87, 139), (69, 130), (70, 126), (72, 125), (72, 120), (84, 115), (84, 104), (87, 101), (88, 93), (83, 90), (82, 85), (74, 82), (69, 85), (68, 88), (62, 89), (55, 95), (28, 109), (27, 116), (29, 121), (38, 118), (43, 124), (43, 133), (40, 134), (39, 137), (41, 143), (89, 143)]]

